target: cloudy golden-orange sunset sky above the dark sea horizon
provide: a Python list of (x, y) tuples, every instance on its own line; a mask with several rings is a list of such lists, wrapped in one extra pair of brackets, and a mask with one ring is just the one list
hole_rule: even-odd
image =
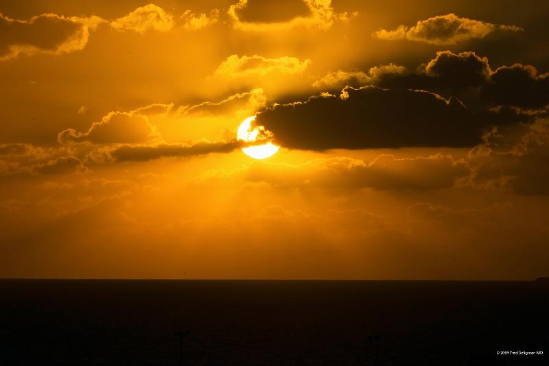
[(548, 17), (0, 1), (0, 277), (549, 275)]

